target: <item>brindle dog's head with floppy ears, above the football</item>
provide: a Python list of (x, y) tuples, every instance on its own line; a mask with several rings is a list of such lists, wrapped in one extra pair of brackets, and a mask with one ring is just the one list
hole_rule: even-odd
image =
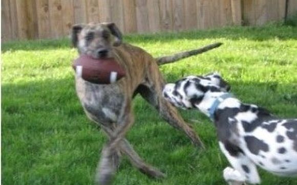
[(109, 58), (113, 47), (121, 44), (122, 34), (113, 22), (79, 24), (72, 27), (71, 39), (80, 54)]

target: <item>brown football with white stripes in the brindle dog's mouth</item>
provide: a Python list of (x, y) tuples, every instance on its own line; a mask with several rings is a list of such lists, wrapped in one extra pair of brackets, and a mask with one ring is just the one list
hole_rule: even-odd
[(80, 55), (72, 66), (77, 76), (97, 84), (114, 83), (125, 76), (123, 68), (114, 58), (94, 59)]

